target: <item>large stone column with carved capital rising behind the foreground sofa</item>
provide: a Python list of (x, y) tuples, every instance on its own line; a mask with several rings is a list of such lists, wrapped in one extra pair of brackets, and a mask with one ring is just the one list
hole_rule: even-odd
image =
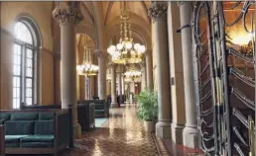
[(68, 105), (72, 104), (73, 136), (77, 138), (81, 135), (81, 128), (77, 122), (75, 26), (83, 17), (79, 11), (79, 2), (66, 1), (58, 4), (53, 17), (61, 26), (62, 108), (68, 109)]

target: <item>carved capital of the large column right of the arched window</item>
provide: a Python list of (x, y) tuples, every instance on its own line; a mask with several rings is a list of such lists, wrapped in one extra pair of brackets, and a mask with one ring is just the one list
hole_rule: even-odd
[(77, 25), (83, 20), (83, 16), (79, 10), (79, 2), (67, 1), (57, 2), (57, 7), (53, 12), (53, 18), (60, 24), (74, 24)]

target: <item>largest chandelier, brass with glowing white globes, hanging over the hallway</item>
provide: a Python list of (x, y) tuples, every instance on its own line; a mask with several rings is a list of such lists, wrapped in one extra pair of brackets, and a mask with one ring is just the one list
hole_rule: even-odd
[(143, 53), (146, 50), (145, 45), (134, 43), (131, 33), (131, 24), (128, 23), (129, 11), (126, 9), (127, 2), (120, 2), (121, 4), (121, 20), (120, 25), (120, 39), (116, 45), (110, 45), (107, 52), (112, 57), (113, 63), (139, 63), (142, 61)]

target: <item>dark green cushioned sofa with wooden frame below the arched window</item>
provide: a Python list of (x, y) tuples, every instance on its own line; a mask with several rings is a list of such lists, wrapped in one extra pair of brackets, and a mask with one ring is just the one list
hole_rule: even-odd
[(0, 111), (6, 154), (57, 155), (72, 144), (71, 110)]

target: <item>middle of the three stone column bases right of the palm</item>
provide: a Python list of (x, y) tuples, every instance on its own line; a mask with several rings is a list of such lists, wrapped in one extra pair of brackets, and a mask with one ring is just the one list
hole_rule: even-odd
[(172, 139), (176, 144), (183, 144), (184, 124), (172, 123)]

